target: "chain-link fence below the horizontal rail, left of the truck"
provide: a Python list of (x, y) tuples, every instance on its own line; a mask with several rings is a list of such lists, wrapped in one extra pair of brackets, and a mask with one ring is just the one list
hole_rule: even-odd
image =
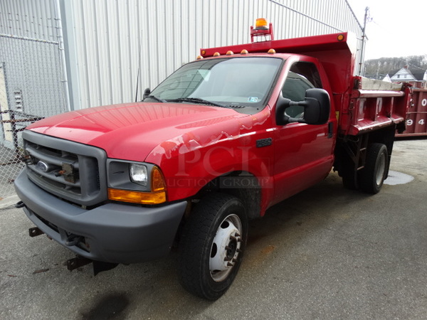
[(0, 198), (14, 194), (21, 132), (67, 111), (59, 43), (0, 34)]

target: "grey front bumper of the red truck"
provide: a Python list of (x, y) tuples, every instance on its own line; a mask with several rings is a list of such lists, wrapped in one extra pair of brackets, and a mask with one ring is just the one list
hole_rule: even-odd
[[(85, 210), (36, 186), (25, 169), (16, 178), (15, 189), (28, 218), (48, 237), (78, 255), (112, 263), (167, 255), (186, 208), (186, 201), (181, 201), (157, 208), (107, 203)], [(70, 245), (72, 238), (81, 241)]]

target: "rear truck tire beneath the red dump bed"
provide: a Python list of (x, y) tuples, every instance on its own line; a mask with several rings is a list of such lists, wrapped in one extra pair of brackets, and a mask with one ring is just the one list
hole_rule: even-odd
[(384, 144), (370, 144), (364, 169), (360, 171), (359, 186), (366, 193), (379, 193), (387, 173), (387, 147)]

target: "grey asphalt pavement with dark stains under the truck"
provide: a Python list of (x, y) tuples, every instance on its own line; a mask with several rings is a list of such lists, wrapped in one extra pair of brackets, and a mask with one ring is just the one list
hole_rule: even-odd
[(395, 144), (370, 196), (337, 174), (250, 225), (231, 289), (206, 302), (181, 289), (177, 253), (96, 277), (0, 201), (0, 319), (427, 319), (427, 139)]

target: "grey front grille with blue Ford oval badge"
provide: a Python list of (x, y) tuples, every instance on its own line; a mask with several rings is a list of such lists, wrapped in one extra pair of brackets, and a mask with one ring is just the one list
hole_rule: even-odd
[(22, 137), (27, 175), (33, 183), (80, 206), (107, 199), (105, 151), (28, 130)]

